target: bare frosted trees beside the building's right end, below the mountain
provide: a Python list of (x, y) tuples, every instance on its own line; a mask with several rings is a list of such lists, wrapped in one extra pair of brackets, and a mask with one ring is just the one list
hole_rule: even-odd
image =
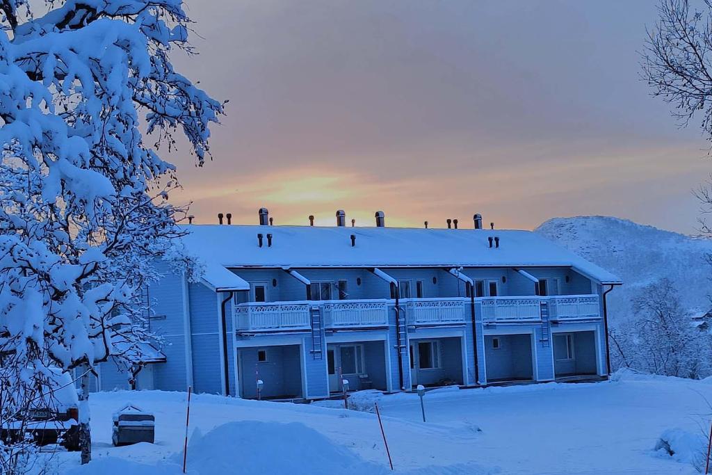
[(611, 330), (616, 367), (693, 379), (712, 374), (712, 337), (693, 326), (671, 281), (643, 288), (633, 308), (634, 318)]

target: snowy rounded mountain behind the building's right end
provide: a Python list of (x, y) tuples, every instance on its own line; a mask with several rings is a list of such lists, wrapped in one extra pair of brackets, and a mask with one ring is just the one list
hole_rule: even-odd
[(664, 277), (676, 283), (686, 308), (712, 308), (711, 239), (609, 216), (550, 219), (535, 231), (623, 279), (609, 293), (612, 320), (629, 315), (640, 288)]

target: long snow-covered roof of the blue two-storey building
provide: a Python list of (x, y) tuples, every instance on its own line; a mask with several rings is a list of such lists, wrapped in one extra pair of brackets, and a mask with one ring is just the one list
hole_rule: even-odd
[[(218, 224), (190, 224), (184, 229), (188, 231), (182, 238), (187, 249), (214, 263), (208, 276), (213, 288), (224, 288), (219, 285), (226, 283), (221, 279), (229, 279), (220, 267), (563, 266), (600, 283), (622, 283), (612, 273), (533, 231)], [(257, 234), (263, 235), (261, 248)], [(267, 234), (272, 235), (272, 246), (268, 246)], [(351, 246), (352, 234), (355, 246)], [(489, 247), (489, 237), (499, 238), (499, 248)]]

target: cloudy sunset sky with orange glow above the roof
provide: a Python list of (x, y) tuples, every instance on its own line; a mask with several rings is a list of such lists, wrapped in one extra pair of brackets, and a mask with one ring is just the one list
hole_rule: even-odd
[[(199, 223), (531, 229), (606, 214), (696, 232), (708, 179), (640, 79), (656, 2), (189, 0), (199, 56), (177, 69), (229, 99), (214, 161), (169, 156)], [(187, 152), (186, 148), (182, 152)]]

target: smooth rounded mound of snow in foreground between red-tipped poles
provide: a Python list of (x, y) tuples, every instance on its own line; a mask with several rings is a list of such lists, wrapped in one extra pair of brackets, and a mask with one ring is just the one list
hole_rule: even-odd
[[(182, 454), (175, 459), (182, 460)], [(229, 422), (193, 434), (188, 468), (201, 475), (387, 473), (300, 422)]]

